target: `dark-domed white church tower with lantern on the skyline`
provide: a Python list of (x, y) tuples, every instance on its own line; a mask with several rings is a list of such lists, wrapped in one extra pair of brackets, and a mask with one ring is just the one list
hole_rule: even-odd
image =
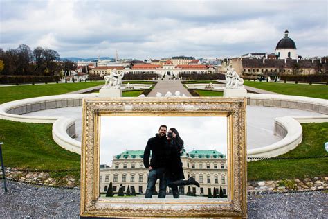
[(296, 44), (289, 37), (288, 30), (284, 31), (284, 38), (282, 38), (275, 46), (275, 55), (279, 59), (291, 58), (293, 60), (298, 58), (296, 54)]

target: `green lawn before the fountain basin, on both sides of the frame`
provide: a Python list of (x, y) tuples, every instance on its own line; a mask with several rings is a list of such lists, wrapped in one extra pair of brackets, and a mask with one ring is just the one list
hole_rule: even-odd
[[(303, 141), (281, 157), (327, 155), (324, 143), (328, 123), (302, 124)], [(0, 142), (3, 141), (5, 166), (16, 168), (65, 170), (79, 169), (80, 155), (57, 146), (51, 137), (51, 124), (19, 123), (0, 119)], [(52, 173), (60, 178), (80, 173)], [(252, 161), (248, 163), (248, 180), (303, 179), (328, 175), (328, 158)]]

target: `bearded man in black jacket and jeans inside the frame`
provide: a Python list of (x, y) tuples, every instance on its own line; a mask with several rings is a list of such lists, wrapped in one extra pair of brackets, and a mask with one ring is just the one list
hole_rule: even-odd
[[(158, 198), (166, 196), (165, 166), (167, 161), (167, 126), (161, 125), (155, 137), (148, 140), (145, 151), (143, 152), (143, 164), (149, 170), (147, 189), (145, 198), (152, 198), (157, 179), (159, 179)], [(152, 151), (152, 159), (149, 156)]]

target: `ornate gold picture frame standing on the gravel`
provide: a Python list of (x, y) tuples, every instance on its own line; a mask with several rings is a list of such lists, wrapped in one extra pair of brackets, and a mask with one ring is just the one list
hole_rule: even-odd
[[(226, 116), (228, 197), (100, 197), (102, 116)], [(215, 130), (206, 130), (214, 132)], [(91, 217), (246, 217), (245, 98), (84, 98), (80, 215)]]

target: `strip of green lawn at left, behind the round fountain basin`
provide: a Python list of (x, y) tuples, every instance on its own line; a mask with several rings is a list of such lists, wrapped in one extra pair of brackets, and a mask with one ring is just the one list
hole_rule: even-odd
[(93, 81), (48, 85), (18, 85), (10, 87), (0, 87), (0, 104), (13, 100), (33, 98), (37, 96), (66, 94), (72, 91), (78, 91), (80, 89), (86, 89), (88, 87), (95, 87), (103, 84), (103, 81)]

